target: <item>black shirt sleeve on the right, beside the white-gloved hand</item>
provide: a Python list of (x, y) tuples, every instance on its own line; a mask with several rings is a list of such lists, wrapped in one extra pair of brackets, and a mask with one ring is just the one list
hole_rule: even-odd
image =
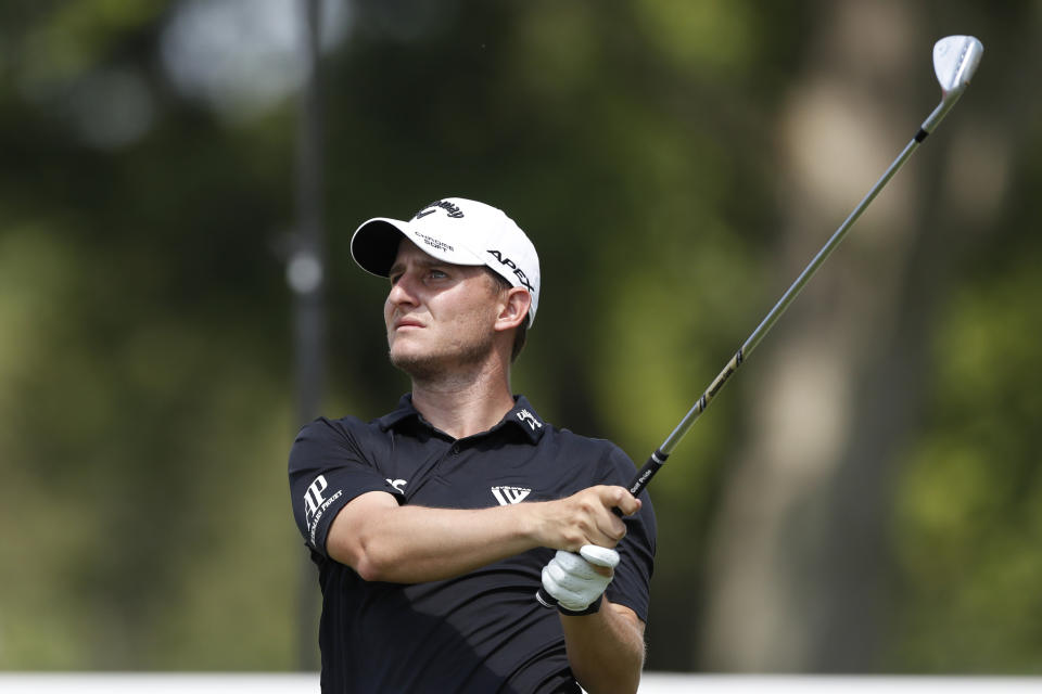
[[(628, 487), (636, 472), (630, 457), (618, 446), (607, 457), (606, 483)], [(657, 527), (651, 498), (644, 490), (639, 496), (643, 505), (635, 515), (626, 516), (626, 537), (615, 548), (620, 555), (615, 577), (608, 584), (606, 595), (613, 603), (625, 605), (641, 621), (648, 620), (651, 600), (651, 574), (655, 570)]]

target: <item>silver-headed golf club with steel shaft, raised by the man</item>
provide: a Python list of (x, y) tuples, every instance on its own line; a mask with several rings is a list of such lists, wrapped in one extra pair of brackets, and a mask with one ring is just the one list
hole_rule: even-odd
[[(706, 408), (709, 407), (712, 399), (720, 393), (720, 389), (724, 387), (727, 380), (738, 370), (738, 367), (749, 358), (749, 355), (757, 348), (760, 340), (763, 339), (764, 335), (767, 334), (792, 300), (799, 295), (803, 285), (806, 284), (822, 264), (825, 262), (825, 259), (828, 258), (836, 246), (843, 240), (847, 232), (850, 231), (850, 228), (865, 211), (865, 208), (868, 207), (876, 195), (879, 194), (879, 191), (893, 178), (893, 175), (908, 160), (908, 157), (911, 157), (912, 153), (926, 140), (927, 136), (937, 128), (938, 124), (944, 118), (948, 112), (951, 111), (952, 106), (955, 105), (955, 102), (963, 95), (966, 86), (969, 85), (969, 80), (977, 70), (983, 51), (984, 47), (973, 36), (948, 36), (933, 44), (933, 72), (937, 74), (937, 80), (941, 86), (941, 103), (938, 104), (937, 108), (923, 121), (915, 137), (905, 145), (901, 154), (898, 155), (898, 158), (893, 160), (882, 177), (876, 181), (876, 184), (872, 187), (868, 194), (862, 198), (828, 242), (817, 252), (817, 255), (814, 256), (810, 265), (803, 269), (803, 272), (796, 279), (796, 282), (786, 290), (785, 294), (778, 303), (775, 304), (774, 308), (771, 309), (766, 318), (752, 331), (752, 334), (749, 335), (738, 351), (735, 352), (735, 356), (732, 357), (727, 365), (724, 367), (724, 370), (717, 374), (709, 387), (702, 393), (698, 401), (695, 402), (695, 406), (684, 415), (684, 419), (676, 425), (676, 428), (674, 428), (665, 441), (651, 453), (651, 457), (648, 458), (644, 466), (637, 471), (636, 476), (630, 483), (630, 493), (636, 497), (648, 486), (648, 483), (655, 474), (661, 470), (670, 457), (670, 453), (672, 453), (676, 445), (681, 442), (681, 439), (683, 439), (691, 428), (691, 425), (695, 424), (696, 420), (706, 411)], [(615, 511), (618, 512), (618, 509)], [(548, 607), (552, 607), (556, 604), (554, 599), (547, 595), (542, 588), (536, 594), (536, 599)]]

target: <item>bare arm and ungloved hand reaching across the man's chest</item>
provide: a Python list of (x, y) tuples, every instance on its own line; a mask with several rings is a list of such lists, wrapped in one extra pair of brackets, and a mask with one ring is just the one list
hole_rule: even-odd
[(370, 491), (333, 518), (326, 551), (368, 581), (441, 580), (536, 547), (612, 548), (625, 535), (615, 506), (630, 515), (640, 501), (622, 487), (598, 486), (557, 501), (429, 509), (398, 505), (392, 494)]

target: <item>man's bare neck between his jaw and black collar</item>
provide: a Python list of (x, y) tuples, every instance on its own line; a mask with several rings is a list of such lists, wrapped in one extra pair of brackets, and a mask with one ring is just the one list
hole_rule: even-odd
[(412, 407), (453, 438), (487, 432), (513, 408), (509, 377), (504, 373), (455, 375), (412, 381)]

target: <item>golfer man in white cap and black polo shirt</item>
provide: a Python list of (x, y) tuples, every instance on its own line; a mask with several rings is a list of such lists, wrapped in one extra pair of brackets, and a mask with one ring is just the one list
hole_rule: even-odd
[(412, 389), (369, 423), (316, 420), (290, 454), (322, 691), (636, 691), (655, 516), (619, 486), (634, 465), (618, 447), (511, 395), (539, 299), (531, 241), (447, 198), (365, 222), (351, 248), (390, 279), (390, 358)]

